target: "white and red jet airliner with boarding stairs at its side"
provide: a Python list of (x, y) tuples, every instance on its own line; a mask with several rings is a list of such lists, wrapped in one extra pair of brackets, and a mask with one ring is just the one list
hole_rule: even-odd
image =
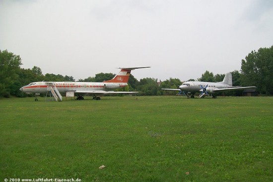
[[(35, 93), (35, 96), (40, 93), (52, 93), (56, 101), (58, 97), (62, 100), (60, 93), (73, 92), (77, 94), (77, 100), (82, 100), (82, 94), (92, 94), (93, 100), (100, 100), (97, 95), (113, 94), (113, 93), (137, 93), (137, 91), (112, 91), (118, 88), (127, 86), (129, 76), (132, 70), (139, 68), (120, 68), (120, 72), (112, 79), (104, 82), (33, 82), (20, 89), (25, 93)], [(35, 101), (38, 101), (35, 97)]]

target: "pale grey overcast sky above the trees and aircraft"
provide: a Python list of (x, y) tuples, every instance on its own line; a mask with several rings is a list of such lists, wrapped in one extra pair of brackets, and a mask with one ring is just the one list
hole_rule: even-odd
[(0, 0), (0, 50), (76, 81), (135, 70), (181, 81), (240, 71), (273, 45), (273, 0)]

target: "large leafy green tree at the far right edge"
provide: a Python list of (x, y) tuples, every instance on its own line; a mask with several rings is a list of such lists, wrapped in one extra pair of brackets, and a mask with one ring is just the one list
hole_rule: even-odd
[(273, 94), (273, 46), (251, 51), (241, 62), (244, 86), (256, 86), (257, 91)]

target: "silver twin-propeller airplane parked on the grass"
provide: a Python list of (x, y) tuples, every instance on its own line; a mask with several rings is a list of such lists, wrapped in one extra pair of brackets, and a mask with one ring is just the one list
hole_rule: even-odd
[[(256, 87), (232, 87), (232, 75), (231, 73), (227, 73), (222, 82), (185, 82), (179, 89), (162, 89), (167, 91), (181, 91), (185, 94), (187, 92), (188, 98), (189, 93), (192, 94), (191, 98), (194, 98), (196, 92), (201, 92), (199, 95), (200, 98), (208, 96), (208, 93), (216, 93), (219, 91), (234, 91), (234, 90), (244, 90), (244, 89), (256, 89)], [(216, 98), (215, 95), (212, 95), (212, 98)]]

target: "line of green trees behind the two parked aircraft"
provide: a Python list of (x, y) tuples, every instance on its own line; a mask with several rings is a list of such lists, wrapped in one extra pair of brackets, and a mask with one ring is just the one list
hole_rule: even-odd
[[(26, 94), (19, 91), (22, 86), (31, 82), (39, 81), (58, 81), (75, 82), (72, 76), (55, 74), (42, 74), (42, 70), (34, 66), (32, 69), (24, 69), (20, 66), (22, 60), (19, 55), (15, 55), (7, 50), (0, 50), (0, 97), (18, 96), (25, 97)], [(258, 51), (251, 51), (245, 59), (241, 61), (240, 72), (235, 70), (232, 74), (233, 86), (256, 86), (261, 94), (273, 94), (273, 46), (270, 48), (260, 48)], [(95, 77), (79, 79), (78, 82), (103, 82), (111, 80), (115, 74), (98, 73)], [(224, 74), (214, 75), (212, 72), (205, 71), (198, 81), (221, 82)], [(191, 79), (189, 81), (194, 81)], [(167, 79), (158, 81), (154, 78), (143, 78), (139, 81), (130, 75), (128, 86), (120, 91), (138, 91), (139, 95), (163, 95), (176, 94), (173, 91), (162, 91), (163, 88), (178, 89), (182, 84), (179, 79)], [(226, 95), (242, 95), (242, 91), (227, 92)]]

